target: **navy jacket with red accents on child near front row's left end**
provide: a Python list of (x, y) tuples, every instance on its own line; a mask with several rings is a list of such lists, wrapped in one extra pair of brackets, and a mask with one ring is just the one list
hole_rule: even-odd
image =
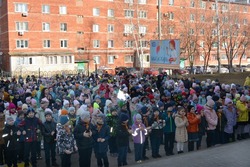
[(26, 131), (25, 142), (34, 142), (38, 140), (37, 130), (41, 131), (42, 122), (37, 118), (26, 117), (20, 124), (19, 128), (21, 132)]

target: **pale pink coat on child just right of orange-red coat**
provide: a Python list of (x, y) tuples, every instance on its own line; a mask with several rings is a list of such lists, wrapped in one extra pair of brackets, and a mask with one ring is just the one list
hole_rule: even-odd
[(207, 130), (215, 130), (218, 124), (218, 116), (214, 110), (204, 107), (204, 115), (207, 121)]

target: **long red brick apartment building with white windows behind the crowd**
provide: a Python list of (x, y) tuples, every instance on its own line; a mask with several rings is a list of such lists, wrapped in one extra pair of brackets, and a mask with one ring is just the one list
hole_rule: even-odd
[[(230, 11), (240, 15), (240, 29), (249, 30), (249, 5), (219, 2), (221, 20)], [(213, 0), (164, 0), (161, 39), (184, 43), (186, 34), (200, 31), (197, 23), (215, 25), (215, 14)], [(202, 43), (202, 36), (197, 35), (197, 42)], [(0, 0), (0, 67), (4, 71), (76, 70), (75, 62), (84, 62), (90, 71), (94, 63), (98, 68), (149, 67), (153, 39), (158, 39), (158, 0)], [(215, 46), (209, 64), (217, 64), (216, 53)], [(200, 55), (195, 55), (194, 64), (203, 64)], [(227, 63), (222, 48), (220, 55), (222, 63)], [(248, 50), (242, 64), (248, 64), (247, 55)], [(186, 52), (181, 55), (187, 56)], [(238, 64), (239, 58), (233, 62)]]

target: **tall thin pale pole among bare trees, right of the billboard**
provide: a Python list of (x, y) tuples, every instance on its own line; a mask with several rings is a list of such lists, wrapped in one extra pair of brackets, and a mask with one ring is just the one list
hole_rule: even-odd
[(216, 26), (217, 26), (217, 60), (218, 60), (218, 73), (220, 73), (220, 24), (219, 24), (219, 4), (218, 0), (215, 1), (216, 4)]

